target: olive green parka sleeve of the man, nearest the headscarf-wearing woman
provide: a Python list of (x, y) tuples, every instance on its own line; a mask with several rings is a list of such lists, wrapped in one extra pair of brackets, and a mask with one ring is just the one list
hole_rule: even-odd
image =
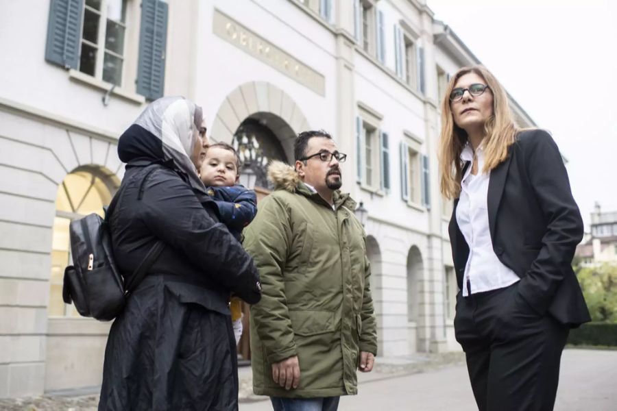
[(263, 293), (261, 301), (251, 307), (251, 327), (265, 347), (270, 363), (298, 354), (283, 279), (291, 227), (285, 204), (275, 196), (269, 195), (260, 203), (257, 216), (244, 232), (243, 242), (255, 260)]

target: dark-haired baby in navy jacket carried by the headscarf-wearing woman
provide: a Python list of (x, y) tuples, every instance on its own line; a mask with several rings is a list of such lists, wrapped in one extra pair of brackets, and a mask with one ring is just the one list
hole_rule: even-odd
[[(221, 222), (237, 240), (241, 240), (242, 229), (257, 213), (255, 192), (237, 184), (240, 177), (239, 166), (240, 160), (236, 151), (224, 142), (217, 142), (202, 149), (199, 177), (204, 182), (208, 195), (215, 200)], [(230, 310), (238, 344), (242, 335), (241, 299), (231, 297)]]

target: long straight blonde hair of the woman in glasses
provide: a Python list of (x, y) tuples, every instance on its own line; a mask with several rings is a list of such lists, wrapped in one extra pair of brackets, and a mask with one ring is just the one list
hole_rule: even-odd
[(493, 114), (484, 125), (485, 163), (483, 172), (494, 169), (508, 156), (508, 148), (513, 144), (519, 129), (514, 124), (508, 106), (508, 95), (503, 86), (484, 66), (463, 67), (452, 76), (444, 101), (441, 103), (441, 134), (439, 136), (439, 171), (441, 194), (448, 199), (459, 197), (463, 162), (461, 152), (468, 141), (467, 132), (458, 127), (452, 117), (450, 92), (463, 75), (476, 73), (484, 79), (493, 93)]

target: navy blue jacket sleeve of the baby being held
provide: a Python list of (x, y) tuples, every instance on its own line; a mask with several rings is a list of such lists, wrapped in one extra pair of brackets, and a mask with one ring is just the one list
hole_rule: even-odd
[(221, 221), (230, 230), (241, 232), (257, 213), (257, 196), (254, 191), (241, 186), (235, 186), (231, 190), (226, 190), (227, 188), (212, 188), (215, 192), (215, 203)]

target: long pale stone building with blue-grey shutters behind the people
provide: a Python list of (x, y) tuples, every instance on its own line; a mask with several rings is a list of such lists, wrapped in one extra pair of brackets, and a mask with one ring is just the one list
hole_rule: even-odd
[(349, 154), (343, 190), (368, 211), (379, 354), (459, 349), (439, 101), (479, 60), (424, 0), (0, 7), (0, 397), (100, 384), (110, 324), (62, 302), (68, 227), (110, 201), (117, 138), (161, 95), (202, 105), (214, 140), (256, 140), (270, 160), (292, 162), (298, 132), (330, 132)]

